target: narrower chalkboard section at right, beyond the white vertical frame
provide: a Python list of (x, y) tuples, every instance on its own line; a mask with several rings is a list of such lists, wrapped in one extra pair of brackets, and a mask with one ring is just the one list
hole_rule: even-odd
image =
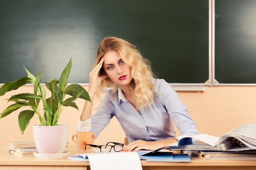
[(256, 0), (215, 0), (215, 79), (256, 84)]

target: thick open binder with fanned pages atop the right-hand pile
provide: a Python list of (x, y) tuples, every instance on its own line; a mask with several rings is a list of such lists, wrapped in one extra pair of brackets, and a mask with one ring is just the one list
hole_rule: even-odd
[(242, 124), (221, 137), (208, 134), (177, 137), (178, 142), (153, 150), (169, 147), (170, 150), (222, 150), (241, 151), (256, 149), (256, 125)]

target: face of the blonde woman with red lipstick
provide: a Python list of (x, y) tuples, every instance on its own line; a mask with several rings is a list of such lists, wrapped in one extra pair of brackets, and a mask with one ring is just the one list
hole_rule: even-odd
[(112, 82), (120, 88), (127, 87), (132, 80), (131, 67), (124, 63), (117, 51), (108, 51), (103, 58), (103, 68)]

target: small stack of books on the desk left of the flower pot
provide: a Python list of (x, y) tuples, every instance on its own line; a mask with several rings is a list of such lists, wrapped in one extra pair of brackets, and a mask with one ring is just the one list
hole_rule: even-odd
[(9, 153), (20, 157), (33, 156), (36, 152), (34, 141), (8, 141)]

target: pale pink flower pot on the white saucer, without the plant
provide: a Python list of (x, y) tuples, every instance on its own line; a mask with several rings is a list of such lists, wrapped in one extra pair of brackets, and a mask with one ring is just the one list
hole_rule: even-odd
[(68, 125), (33, 126), (36, 149), (40, 154), (61, 154), (67, 145)]

